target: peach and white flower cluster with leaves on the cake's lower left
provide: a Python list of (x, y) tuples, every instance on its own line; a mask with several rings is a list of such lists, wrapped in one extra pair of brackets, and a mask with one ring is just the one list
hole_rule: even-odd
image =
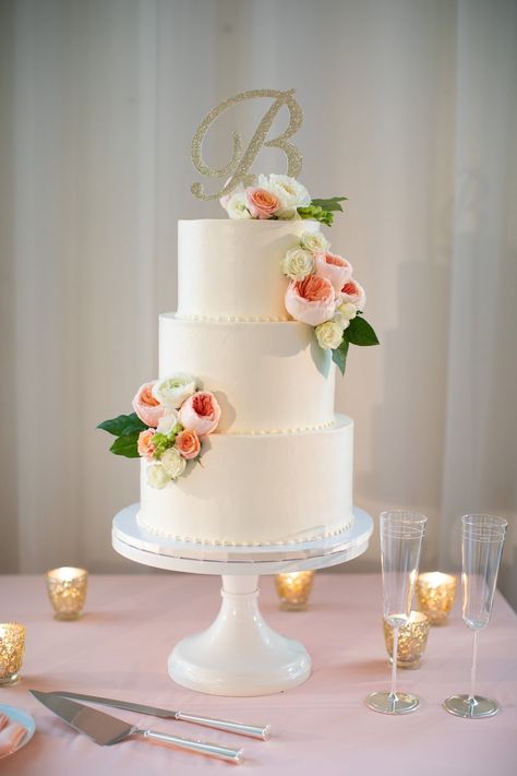
[(117, 437), (110, 451), (149, 462), (153, 488), (184, 474), (189, 461), (200, 463), (203, 439), (220, 420), (220, 407), (209, 391), (201, 391), (192, 374), (177, 372), (144, 383), (133, 398), (134, 413), (105, 420), (97, 428)]

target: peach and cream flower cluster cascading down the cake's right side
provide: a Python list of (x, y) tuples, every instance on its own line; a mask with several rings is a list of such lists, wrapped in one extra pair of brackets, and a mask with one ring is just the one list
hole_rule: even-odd
[(290, 278), (286, 310), (296, 321), (314, 326), (317, 344), (332, 350), (345, 373), (349, 345), (377, 345), (378, 339), (362, 317), (366, 295), (352, 278), (352, 265), (329, 248), (321, 232), (304, 231), (287, 251), (281, 260), (281, 271)]

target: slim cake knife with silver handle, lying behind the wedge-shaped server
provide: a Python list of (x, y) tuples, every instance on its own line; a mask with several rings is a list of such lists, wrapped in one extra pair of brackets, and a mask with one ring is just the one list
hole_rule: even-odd
[(76, 701), (87, 701), (89, 703), (100, 703), (103, 706), (112, 706), (113, 708), (125, 708), (130, 712), (139, 712), (140, 714), (151, 714), (154, 717), (163, 719), (177, 719), (183, 723), (194, 723), (203, 725), (215, 730), (225, 730), (226, 732), (238, 733), (239, 736), (249, 736), (250, 738), (262, 739), (267, 741), (270, 738), (270, 726), (245, 725), (244, 723), (231, 723), (227, 719), (214, 719), (213, 717), (200, 717), (185, 712), (173, 712), (167, 708), (157, 708), (156, 706), (146, 706), (141, 703), (131, 703), (130, 701), (117, 701), (112, 697), (99, 697), (97, 695), (83, 695), (77, 692), (64, 692), (56, 690), (52, 695), (61, 697), (73, 697)]

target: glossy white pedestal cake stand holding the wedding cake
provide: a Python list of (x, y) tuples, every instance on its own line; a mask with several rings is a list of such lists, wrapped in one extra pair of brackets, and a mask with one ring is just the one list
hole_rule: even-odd
[(168, 669), (178, 684), (213, 695), (269, 695), (301, 684), (311, 658), (296, 641), (275, 633), (258, 610), (258, 576), (325, 569), (368, 547), (372, 518), (353, 510), (353, 526), (318, 541), (228, 547), (175, 541), (143, 530), (139, 504), (113, 518), (112, 545), (124, 558), (169, 571), (223, 576), (223, 605), (214, 623), (172, 649)]

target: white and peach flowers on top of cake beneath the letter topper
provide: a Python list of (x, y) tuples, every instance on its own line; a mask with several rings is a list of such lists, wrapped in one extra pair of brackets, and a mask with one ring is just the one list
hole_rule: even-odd
[(260, 218), (292, 220), (311, 218), (330, 226), (334, 212), (342, 211), (339, 204), (346, 196), (312, 200), (304, 186), (287, 175), (260, 175), (258, 186), (244, 189), (242, 183), (231, 194), (223, 196), (220, 204), (230, 218)]

